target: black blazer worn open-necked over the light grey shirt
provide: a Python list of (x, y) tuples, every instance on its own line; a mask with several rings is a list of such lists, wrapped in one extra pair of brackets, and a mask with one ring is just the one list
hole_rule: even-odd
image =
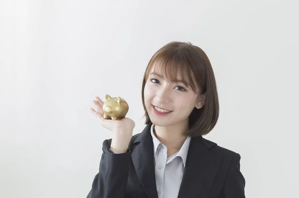
[[(150, 126), (132, 137), (127, 153), (114, 154), (108, 149), (112, 139), (104, 140), (87, 198), (158, 198)], [(192, 137), (178, 198), (245, 198), (240, 159), (202, 136)]]

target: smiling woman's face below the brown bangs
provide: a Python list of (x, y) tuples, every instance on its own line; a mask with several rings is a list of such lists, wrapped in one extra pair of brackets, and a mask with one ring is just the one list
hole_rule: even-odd
[[(181, 80), (180, 76), (177, 76)], [(166, 81), (159, 73), (149, 72), (144, 89), (145, 105), (151, 122), (158, 126), (186, 124), (194, 107), (201, 108), (204, 104), (198, 101), (198, 95), (183, 83)], [(171, 110), (161, 115), (154, 106)]]

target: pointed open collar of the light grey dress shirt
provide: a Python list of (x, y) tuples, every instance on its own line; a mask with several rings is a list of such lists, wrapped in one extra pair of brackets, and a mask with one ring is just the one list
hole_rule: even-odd
[[(158, 138), (154, 135), (153, 133), (153, 128), (154, 128), (154, 124), (151, 124), (151, 127), (150, 127), (150, 134), (151, 134), (151, 137), (152, 137), (152, 142), (153, 142), (153, 156), (155, 155), (156, 153), (156, 150), (158, 148), (158, 146), (160, 144), (162, 144), (160, 142), (160, 140), (158, 140)], [(180, 148), (180, 150), (177, 152), (176, 156), (180, 156), (183, 160), (183, 164), (184, 164), (184, 167), (186, 165), (186, 160), (187, 160), (187, 154), (188, 154), (188, 149), (189, 149), (189, 145), (190, 145), (190, 140), (191, 140), (191, 137), (188, 136), (184, 142), (184, 144), (182, 145), (182, 147)]]

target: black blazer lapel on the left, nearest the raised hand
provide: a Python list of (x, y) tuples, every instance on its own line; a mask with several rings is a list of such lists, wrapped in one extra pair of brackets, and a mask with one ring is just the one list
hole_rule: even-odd
[(158, 198), (150, 126), (148, 124), (134, 141), (134, 144), (140, 143), (132, 152), (132, 161), (148, 198)]

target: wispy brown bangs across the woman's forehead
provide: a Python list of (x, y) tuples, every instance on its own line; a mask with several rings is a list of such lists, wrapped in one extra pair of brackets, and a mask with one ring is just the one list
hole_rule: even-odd
[[(153, 72), (162, 75), (165, 80), (175, 83), (181, 82), (194, 93), (199, 94), (199, 85), (195, 80), (193, 67), (189, 64), (187, 59), (182, 56), (182, 54), (159, 54), (158, 56), (153, 57), (153, 59), (149, 62), (146, 79), (149, 78), (152, 68)], [(179, 79), (177, 79), (177, 77)]]

